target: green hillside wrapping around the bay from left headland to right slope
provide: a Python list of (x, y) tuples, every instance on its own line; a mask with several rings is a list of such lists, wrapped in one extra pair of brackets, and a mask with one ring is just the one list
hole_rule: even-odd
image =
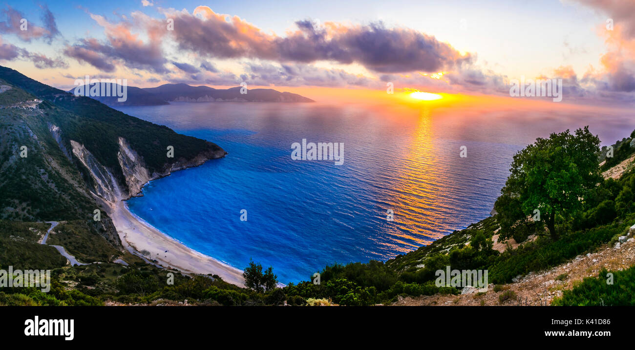
[[(582, 148), (584, 159), (590, 159), (584, 164), (589, 173), (603, 172), (604, 178), (592, 178), (583, 196), (572, 191), (579, 207), (559, 215), (558, 236), (545, 234), (545, 225), (527, 220), (524, 212), (505, 236), (509, 213), (498, 210), (387, 262), (333, 264), (320, 271), (319, 284), (303, 281), (264, 292), (217, 275), (161, 269), (157, 260), (148, 260), (152, 257), (124, 250), (109, 217), (113, 203), (137, 194), (148, 180), (225, 156), (218, 145), (6, 68), (0, 68), (0, 117), (0, 266), (53, 269), (55, 281), (48, 295), (3, 288), (0, 305), (175, 305), (185, 300), (227, 306), (285, 301), (294, 306), (635, 304), (632, 137), (615, 144), (620, 150), (615, 159), (606, 158), (599, 139), (592, 144), (597, 147)], [(525, 150), (545, 147), (541, 155), (554, 157), (562, 147), (549, 147), (566, 140), (578, 151), (577, 142), (595, 142), (583, 135), (581, 130), (575, 136), (554, 134), (552, 144), (542, 139)], [(168, 145), (175, 149), (174, 158), (166, 156)], [(578, 164), (569, 164), (577, 172)], [(542, 182), (536, 183), (531, 194), (543, 189)], [(95, 208), (103, 210), (100, 221), (92, 219)], [(39, 244), (48, 231), (46, 244)], [(511, 239), (505, 237), (516, 243), (507, 246)], [(63, 246), (85, 265), (68, 266), (48, 244)], [(489, 288), (436, 285), (436, 271), (448, 266), (488, 271)], [(166, 285), (167, 271), (175, 273), (174, 285)], [(606, 283), (607, 273), (615, 275), (614, 284)]]

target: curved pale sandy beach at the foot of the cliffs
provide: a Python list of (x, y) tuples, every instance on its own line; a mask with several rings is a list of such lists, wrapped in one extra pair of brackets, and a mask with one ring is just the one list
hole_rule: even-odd
[(127, 249), (147, 251), (150, 254), (144, 256), (156, 260), (163, 267), (172, 267), (184, 273), (217, 274), (224, 281), (244, 286), (243, 271), (196, 252), (139, 220), (128, 210), (125, 201), (117, 201), (110, 215), (121, 243)]

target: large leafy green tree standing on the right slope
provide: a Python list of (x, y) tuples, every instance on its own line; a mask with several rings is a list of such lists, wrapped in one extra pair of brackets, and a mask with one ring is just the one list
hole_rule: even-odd
[(580, 213), (584, 198), (601, 181), (598, 152), (599, 138), (589, 126), (574, 135), (566, 130), (537, 138), (517, 152), (495, 204), (500, 237), (509, 238), (529, 225), (546, 225), (551, 238), (558, 239), (556, 220)]

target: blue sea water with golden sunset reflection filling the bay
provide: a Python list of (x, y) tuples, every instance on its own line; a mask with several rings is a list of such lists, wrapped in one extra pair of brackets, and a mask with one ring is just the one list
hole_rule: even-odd
[[(128, 201), (131, 212), (231, 266), (272, 266), (282, 283), (310, 280), (335, 262), (385, 261), (484, 219), (514, 152), (536, 137), (590, 124), (610, 144), (635, 127), (627, 116), (404, 105), (117, 109), (229, 152), (150, 182)], [(291, 144), (303, 138), (342, 142), (344, 164), (292, 160)]]

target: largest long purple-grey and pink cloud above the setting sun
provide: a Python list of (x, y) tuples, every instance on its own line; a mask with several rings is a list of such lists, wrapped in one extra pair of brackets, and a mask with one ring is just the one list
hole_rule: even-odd
[(387, 28), (382, 22), (342, 25), (309, 20), (295, 22), (286, 37), (266, 34), (241, 18), (199, 6), (187, 11), (164, 11), (174, 19), (174, 40), (181, 50), (203, 57), (258, 58), (278, 62), (331, 61), (361, 64), (374, 72), (433, 72), (471, 62), (450, 44), (407, 28)]

